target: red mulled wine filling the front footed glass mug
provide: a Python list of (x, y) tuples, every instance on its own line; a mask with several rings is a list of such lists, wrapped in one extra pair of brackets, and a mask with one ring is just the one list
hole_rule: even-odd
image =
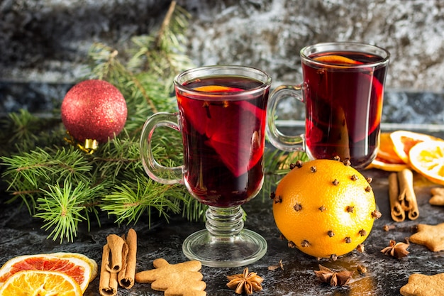
[(232, 207), (262, 187), (267, 92), (248, 77), (207, 77), (177, 90), (184, 182), (200, 202)]

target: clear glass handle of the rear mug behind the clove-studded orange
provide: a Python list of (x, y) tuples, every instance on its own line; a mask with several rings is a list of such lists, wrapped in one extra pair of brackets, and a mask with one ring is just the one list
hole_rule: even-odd
[(285, 135), (276, 126), (275, 116), (279, 102), (288, 97), (294, 97), (304, 103), (302, 96), (302, 86), (298, 85), (281, 85), (274, 89), (270, 94), (269, 109), (267, 109), (267, 136), (272, 145), (279, 150), (284, 151), (304, 151), (304, 133), (297, 136)]

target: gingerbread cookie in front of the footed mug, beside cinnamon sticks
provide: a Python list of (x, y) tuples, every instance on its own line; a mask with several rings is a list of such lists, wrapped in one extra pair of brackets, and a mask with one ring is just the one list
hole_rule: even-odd
[(206, 296), (199, 261), (170, 264), (159, 258), (152, 264), (155, 269), (135, 274), (136, 282), (151, 283), (152, 290), (164, 291), (165, 296)]

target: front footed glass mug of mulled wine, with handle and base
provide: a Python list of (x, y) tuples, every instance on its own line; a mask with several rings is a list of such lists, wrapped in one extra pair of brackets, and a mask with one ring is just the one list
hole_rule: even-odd
[[(179, 113), (157, 113), (143, 126), (143, 167), (157, 182), (184, 184), (209, 205), (206, 229), (183, 244), (185, 256), (213, 267), (247, 265), (267, 242), (243, 229), (243, 210), (264, 181), (267, 101), (271, 77), (243, 66), (187, 70), (174, 78)], [(152, 133), (168, 126), (182, 133), (184, 165), (167, 168), (152, 155)], [(174, 143), (172, 143), (174, 144)]]

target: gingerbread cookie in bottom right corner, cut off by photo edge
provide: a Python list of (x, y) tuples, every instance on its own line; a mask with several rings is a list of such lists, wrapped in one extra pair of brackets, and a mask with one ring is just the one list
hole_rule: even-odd
[(421, 275), (414, 273), (409, 283), (399, 290), (403, 296), (444, 296), (444, 273)]

